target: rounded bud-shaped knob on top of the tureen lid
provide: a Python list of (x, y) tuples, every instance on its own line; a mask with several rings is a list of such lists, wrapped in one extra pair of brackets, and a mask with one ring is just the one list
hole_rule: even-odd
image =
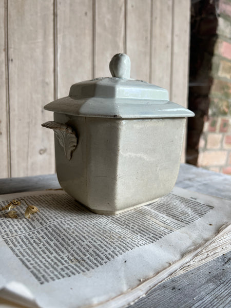
[(115, 54), (109, 64), (112, 77), (130, 79), (131, 61), (127, 54)]

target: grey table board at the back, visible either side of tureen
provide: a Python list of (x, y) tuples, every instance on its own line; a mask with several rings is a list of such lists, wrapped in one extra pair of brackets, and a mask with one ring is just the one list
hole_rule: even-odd
[[(231, 200), (231, 177), (219, 172), (181, 164), (176, 186)], [(0, 194), (60, 188), (56, 175), (0, 179)]]

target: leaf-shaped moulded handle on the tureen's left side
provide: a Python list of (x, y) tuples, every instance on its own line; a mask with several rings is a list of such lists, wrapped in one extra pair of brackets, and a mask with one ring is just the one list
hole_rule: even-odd
[(57, 123), (54, 121), (48, 121), (46, 123), (43, 123), (42, 126), (53, 129), (57, 139), (59, 140), (60, 145), (64, 149), (66, 158), (70, 160), (73, 151), (78, 144), (78, 136), (76, 136), (74, 130), (66, 124)]

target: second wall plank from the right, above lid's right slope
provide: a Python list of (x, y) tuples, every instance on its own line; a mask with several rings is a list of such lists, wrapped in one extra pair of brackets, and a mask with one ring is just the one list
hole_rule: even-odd
[(172, 0), (153, 0), (150, 82), (170, 91)]

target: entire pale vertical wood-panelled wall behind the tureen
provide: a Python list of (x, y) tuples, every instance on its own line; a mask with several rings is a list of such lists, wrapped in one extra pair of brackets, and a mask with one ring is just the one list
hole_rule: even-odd
[(190, 0), (0, 0), (0, 178), (55, 171), (43, 106), (115, 53), (186, 106), (189, 17)]

